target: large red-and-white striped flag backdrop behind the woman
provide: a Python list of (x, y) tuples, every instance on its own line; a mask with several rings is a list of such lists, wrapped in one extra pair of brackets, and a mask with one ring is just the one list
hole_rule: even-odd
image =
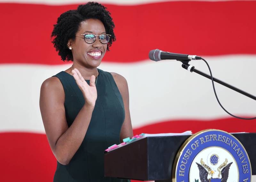
[[(81, 0), (0, 1), (0, 181), (52, 181), (56, 159), (39, 110), (42, 82), (66, 70), (51, 43), (53, 24)], [(153, 62), (152, 49), (204, 57), (213, 76), (256, 95), (256, 1), (101, 0), (116, 42), (100, 69), (129, 86), (133, 133), (203, 129), (256, 132), (256, 121), (232, 118), (211, 80), (174, 60)], [(209, 73), (203, 61), (191, 61)], [(256, 102), (216, 83), (231, 113), (256, 116)]]

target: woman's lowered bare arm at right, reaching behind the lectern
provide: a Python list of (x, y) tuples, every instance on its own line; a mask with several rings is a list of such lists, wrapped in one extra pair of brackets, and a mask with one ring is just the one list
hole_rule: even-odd
[(129, 109), (128, 84), (123, 76), (113, 72), (111, 74), (116, 82), (119, 92), (123, 97), (123, 102), (124, 102), (125, 118), (121, 128), (121, 133), (120, 133), (120, 141), (123, 141), (124, 138), (127, 138), (127, 137), (132, 138), (133, 136), (132, 122), (131, 122), (130, 109)]

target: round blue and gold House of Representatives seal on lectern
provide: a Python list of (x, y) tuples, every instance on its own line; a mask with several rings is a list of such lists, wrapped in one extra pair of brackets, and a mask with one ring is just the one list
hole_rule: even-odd
[(178, 152), (173, 182), (250, 182), (251, 163), (244, 146), (221, 130), (203, 130), (189, 137)]

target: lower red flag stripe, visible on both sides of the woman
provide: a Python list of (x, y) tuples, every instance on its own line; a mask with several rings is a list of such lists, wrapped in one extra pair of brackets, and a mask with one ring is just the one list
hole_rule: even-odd
[[(196, 133), (206, 128), (227, 132), (256, 132), (255, 121), (226, 118), (213, 121), (180, 120), (166, 121), (143, 126), (133, 131), (140, 133), (178, 133), (192, 130)], [(0, 133), (0, 181), (27, 182), (52, 181), (56, 159), (46, 135), (36, 133)], [(36, 180), (35, 180), (36, 179)], [(135, 181), (133, 181), (135, 182)]]

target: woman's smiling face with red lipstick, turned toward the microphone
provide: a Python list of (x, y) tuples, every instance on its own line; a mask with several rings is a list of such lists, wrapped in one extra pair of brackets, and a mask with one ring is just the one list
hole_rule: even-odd
[(96, 40), (89, 44), (84, 41), (84, 36), (81, 34), (106, 34), (103, 23), (98, 19), (87, 19), (81, 22), (76, 33), (75, 40), (69, 40), (68, 47), (72, 47), (72, 55), (74, 64), (80, 64), (87, 68), (95, 68), (100, 65), (104, 57), (107, 44), (102, 44), (99, 36)]

